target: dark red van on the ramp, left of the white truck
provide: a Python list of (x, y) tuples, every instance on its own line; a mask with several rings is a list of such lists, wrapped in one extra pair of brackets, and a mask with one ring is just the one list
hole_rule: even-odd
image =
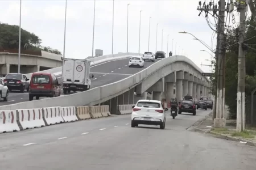
[(29, 99), (60, 96), (61, 84), (54, 74), (33, 73), (30, 81)]

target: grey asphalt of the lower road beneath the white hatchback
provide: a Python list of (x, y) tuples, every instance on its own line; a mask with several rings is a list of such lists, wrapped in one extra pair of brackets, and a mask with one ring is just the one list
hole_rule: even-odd
[(209, 112), (168, 115), (164, 130), (113, 115), (0, 134), (0, 169), (255, 170), (255, 147), (186, 130)]

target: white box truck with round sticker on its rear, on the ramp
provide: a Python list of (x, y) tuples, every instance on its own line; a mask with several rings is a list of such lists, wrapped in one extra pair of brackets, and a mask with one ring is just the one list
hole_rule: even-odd
[(90, 89), (90, 61), (86, 59), (62, 58), (63, 61), (63, 93), (86, 91)]

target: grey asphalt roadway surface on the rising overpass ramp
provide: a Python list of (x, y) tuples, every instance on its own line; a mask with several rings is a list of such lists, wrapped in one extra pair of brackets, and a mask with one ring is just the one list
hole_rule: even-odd
[[(156, 59), (155, 62), (157, 61), (159, 60)], [(144, 68), (139, 68), (139, 67), (130, 68), (128, 66), (129, 59), (126, 58), (126, 59), (119, 59), (115, 61), (101, 63), (96, 66), (92, 66), (90, 69), (90, 72), (94, 74), (94, 78), (92, 79), (91, 88), (117, 82), (118, 80), (121, 80), (130, 75), (138, 73), (143, 69), (146, 69), (148, 66), (152, 65), (152, 63), (155, 63), (155, 62), (150, 62), (150, 61), (144, 62)], [(71, 92), (71, 94), (74, 94), (74, 93), (75, 92)], [(61, 90), (61, 94), (64, 95), (62, 90)], [(44, 98), (45, 97), (40, 97), (40, 99), (44, 99)], [(34, 97), (34, 100), (35, 100), (35, 97)], [(9, 105), (9, 104), (15, 104), (15, 103), (20, 103), (24, 101), (29, 101), (28, 92), (20, 93), (19, 91), (17, 92), (12, 91), (9, 93), (8, 101), (1, 100), (0, 105)]]

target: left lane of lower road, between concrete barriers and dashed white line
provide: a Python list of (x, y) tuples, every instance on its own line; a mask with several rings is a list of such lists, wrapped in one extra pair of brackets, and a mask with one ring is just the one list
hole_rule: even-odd
[(130, 123), (130, 118), (130, 115), (112, 115), (110, 117), (56, 124), (43, 128), (1, 133), (0, 152), (3, 148), (15, 150), (27, 143), (46, 144), (63, 137), (72, 138), (82, 133), (94, 133), (99, 129), (126, 126), (126, 124)]

